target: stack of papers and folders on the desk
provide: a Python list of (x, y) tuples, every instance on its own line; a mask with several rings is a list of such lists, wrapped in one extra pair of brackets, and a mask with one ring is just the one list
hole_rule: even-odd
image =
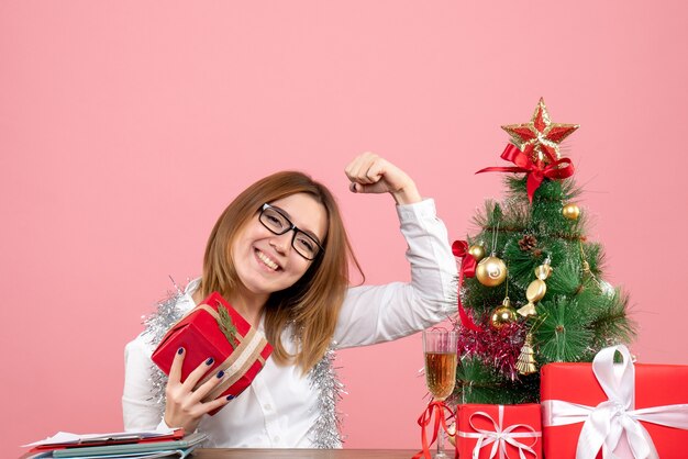
[(118, 432), (77, 435), (59, 432), (31, 447), (23, 458), (186, 458), (206, 439), (206, 434), (184, 435), (184, 429), (168, 432)]

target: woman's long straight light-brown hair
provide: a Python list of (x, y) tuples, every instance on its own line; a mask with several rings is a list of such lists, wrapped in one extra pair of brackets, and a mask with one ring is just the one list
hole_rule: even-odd
[[(323, 184), (298, 171), (284, 171), (258, 180), (244, 190), (222, 212), (215, 223), (203, 258), (200, 291), (229, 296), (240, 284), (231, 247), (241, 231), (264, 203), (307, 193), (325, 208), (328, 232), (322, 250), (306, 273), (291, 287), (274, 292), (265, 304), (265, 333), (273, 345), (273, 358), (280, 365), (293, 361), (303, 372), (325, 354), (349, 284), (348, 261), (363, 271), (353, 254), (334, 197)], [(298, 339), (296, 355), (285, 349), (280, 335), (293, 326)]]

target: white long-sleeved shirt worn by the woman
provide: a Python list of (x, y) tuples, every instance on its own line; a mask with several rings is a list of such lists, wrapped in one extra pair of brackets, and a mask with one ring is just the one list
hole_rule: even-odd
[[(456, 313), (456, 261), (434, 201), (398, 205), (397, 213), (409, 246), (411, 282), (349, 288), (334, 332), (335, 348), (401, 338)], [(191, 295), (198, 283), (189, 283), (179, 300), (184, 311), (196, 305)], [(287, 351), (296, 350), (289, 329), (281, 339)], [(148, 340), (140, 335), (124, 350), (122, 408), (126, 430), (165, 426), (152, 396), (154, 347)], [(278, 366), (268, 358), (252, 384), (214, 416), (204, 416), (198, 429), (209, 435), (208, 447), (312, 448), (319, 395), (300, 368)]]

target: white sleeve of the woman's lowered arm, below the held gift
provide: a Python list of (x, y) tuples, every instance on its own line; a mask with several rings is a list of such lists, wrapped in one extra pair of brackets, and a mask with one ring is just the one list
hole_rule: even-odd
[(162, 407), (153, 400), (151, 378), (154, 363), (151, 345), (138, 336), (124, 348), (124, 393), (122, 415), (124, 430), (155, 430), (167, 426), (162, 421)]

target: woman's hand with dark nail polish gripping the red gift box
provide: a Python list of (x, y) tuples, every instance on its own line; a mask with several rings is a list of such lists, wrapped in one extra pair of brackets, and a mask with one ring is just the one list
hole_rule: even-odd
[(208, 368), (213, 363), (209, 358), (199, 365), (188, 378), (181, 382), (181, 363), (184, 362), (185, 349), (179, 348), (169, 370), (169, 379), (165, 388), (165, 396), (167, 403), (165, 405), (165, 424), (168, 427), (184, 427), (187, 433), (196, 430), (201, 417), (215, 408), (224, 406), (232, 399), (221, 398), (211, 402), (202, 403), (201, 400), (208, 395), (220, 382), (222, 382), (223, 371), (218, 372), (213, 378), (209, 379), (193, 390), (201, 377), (206, 374)]

